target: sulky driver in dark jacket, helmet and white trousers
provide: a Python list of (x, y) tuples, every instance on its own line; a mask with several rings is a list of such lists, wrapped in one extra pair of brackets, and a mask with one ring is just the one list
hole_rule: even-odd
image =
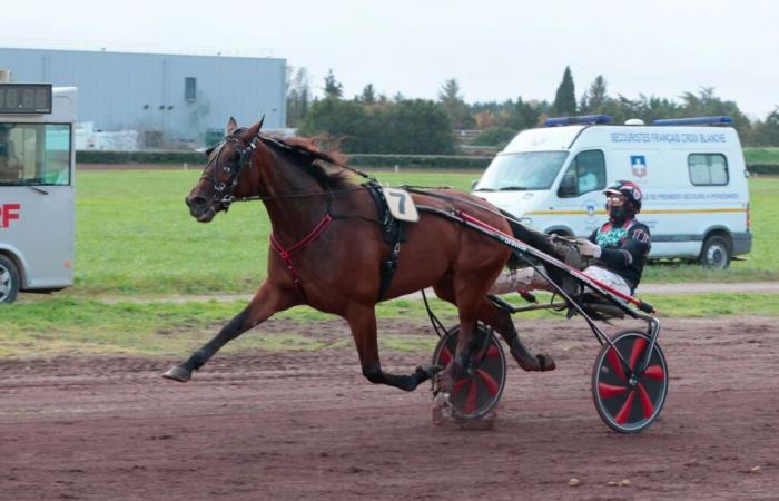
[[(643, 196), (637, 184), (625, 180), (610, 185), (603, 194), (609, 220), (589, 238), (578, 238), (576, 249), (581, 256), (594, 259), (584, 274), (631, 295), (639, 286), (651, 248), (649, 227), (635, 218)], [(487, 294), (530, 289), (552, 287), (534, 268), (527, 267), (502, 273)]]

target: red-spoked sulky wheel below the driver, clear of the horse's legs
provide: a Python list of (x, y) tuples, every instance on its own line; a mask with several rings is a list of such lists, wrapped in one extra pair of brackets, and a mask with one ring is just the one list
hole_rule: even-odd
[(629, 367), (614, 348), (601, 347), (592, 371), (592, 397), (605, 424), (620, 433), (638, 433), (660, 414), (668, 393), (668, 365), (655, 343), (645, 371), (634, 374), (647, 356), (650, 337), (641, 332), (623, 331), (612, 338)]

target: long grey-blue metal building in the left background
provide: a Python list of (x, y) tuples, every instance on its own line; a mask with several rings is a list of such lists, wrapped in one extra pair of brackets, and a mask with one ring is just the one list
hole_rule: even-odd
[(279, 58), (0, 48), (11, 81), (78, 87), (79, 121), (165, 143), (203, 144), (230, 116), (285, 127), (285, 67)]

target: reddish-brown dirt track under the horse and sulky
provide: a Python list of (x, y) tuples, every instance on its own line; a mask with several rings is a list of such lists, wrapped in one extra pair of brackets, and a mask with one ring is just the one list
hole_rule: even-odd
[(0, 361), (0, 499), (779, 499), (775, 320), (665, 321), (670, 394), (640, 435), (600, 421), (582, 325), (533, 323), (559, 369), (512, 366), (490, 431), (432, 425), (427, 385), (371, 385), (354, 350), (217, 355), (188, 384), (169, 360)]

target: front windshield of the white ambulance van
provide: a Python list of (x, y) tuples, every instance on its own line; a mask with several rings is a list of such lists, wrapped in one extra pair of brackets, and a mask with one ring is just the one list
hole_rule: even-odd
[(568, 151), (523, 151), (499, 155), (490, 164), (474, 191), (549, 189)]

